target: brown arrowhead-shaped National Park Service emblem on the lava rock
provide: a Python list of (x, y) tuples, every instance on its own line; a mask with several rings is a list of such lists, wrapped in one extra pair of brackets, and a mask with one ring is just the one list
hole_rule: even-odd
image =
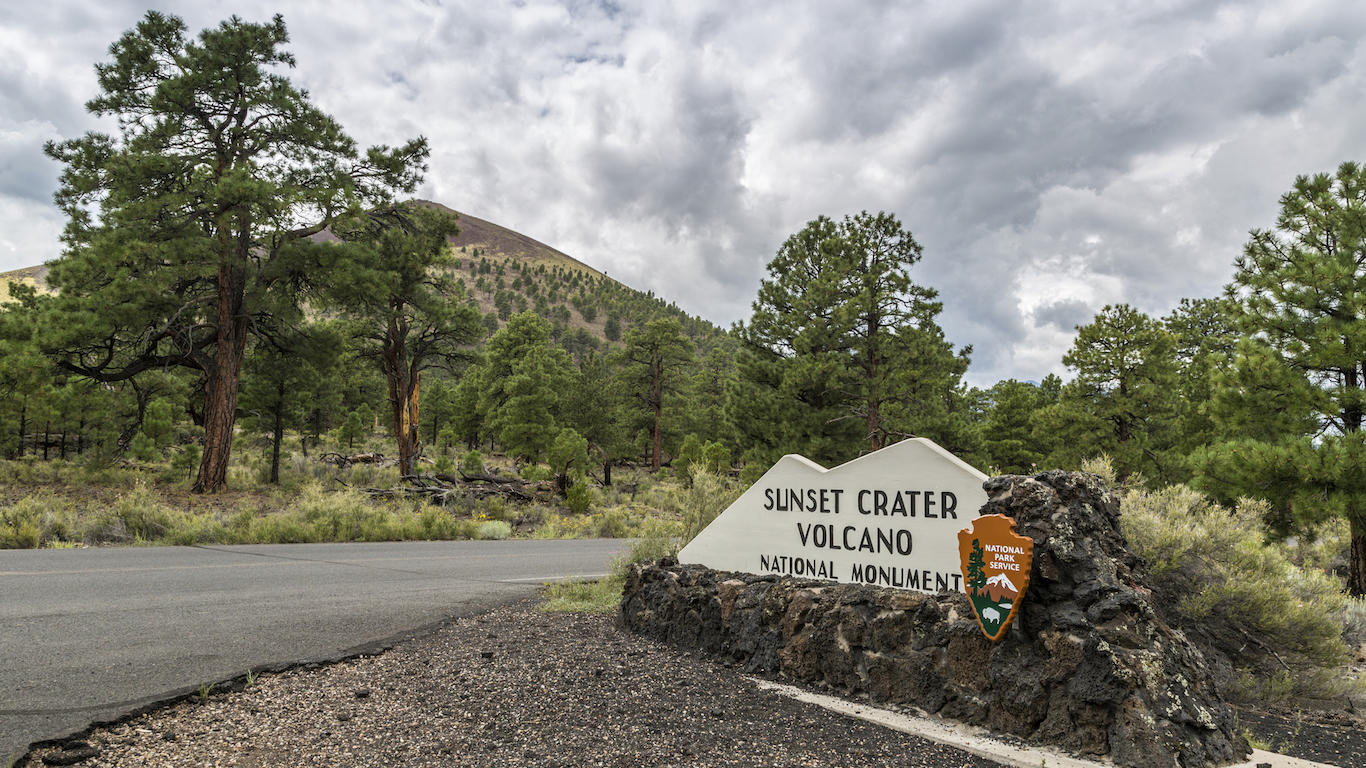
[(977, 623), (986, 640), (997, 641), (1011, 626), (1029, 589), (1034, 541), (1015, 533), (1014, 519), (984, 515), (973, 521), (973, 527), (958, 532), (958, 555)]

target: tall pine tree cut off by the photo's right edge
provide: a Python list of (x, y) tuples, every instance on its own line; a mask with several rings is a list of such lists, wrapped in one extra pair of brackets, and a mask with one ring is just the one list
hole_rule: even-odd
[(1228, 298), (1244, 336), (1214, 374), (1231, 437), (1197, 484), (1272, 502), (1280, 533), (1351, 523), (1347, 589), (1366, 594), (1366, 168), (1299, 176), (1274, 230), (1254, 230)]

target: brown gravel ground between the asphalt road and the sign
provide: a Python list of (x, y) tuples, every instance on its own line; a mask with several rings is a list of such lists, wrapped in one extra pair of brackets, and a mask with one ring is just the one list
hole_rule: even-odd
[[(378, 656), (239, 679), (41, 746), (26, 764), (997, 765), (761, 690), (724, 661), (619, 631), (612, 616), (542, 614), (537, 603), (452, 620)], [(1250, 726), (1285, 724), (1247, 715)], [(1366, 754), (1359, 720), (1288, 727), (1290, 754), (1344, 767)]]

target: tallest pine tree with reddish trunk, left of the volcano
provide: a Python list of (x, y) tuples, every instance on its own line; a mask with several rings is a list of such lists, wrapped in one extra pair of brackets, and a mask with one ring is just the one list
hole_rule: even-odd
[[(363, 156), (277, 74), (294, 57), (280, 16), (232, 16), (187, 38), (149, 11), (97, 64), (86, 108), (116, 137), (49, 142), (66, 165), (66, 251), (49, 283), (57, 365), (98, 381), (186, 366), (205, 379), (197, 492), (227, 481), (247, 336), (329, 273), (310, 236), (362, 204), (411, 191), (426, 142)], [(340, 258), (337, 250), (326, 254)]]

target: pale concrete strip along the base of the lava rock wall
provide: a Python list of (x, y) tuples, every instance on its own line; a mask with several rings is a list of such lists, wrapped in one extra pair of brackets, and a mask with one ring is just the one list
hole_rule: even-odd
[[(1040, 765), (1048, 765), (1049, 768), (1115, 768), (1113, 763), (1082, 760), (1081, 757), (1072, 757), (1050, 748), (1005, 743), (994, 738), (986, 728), (951, 723), (940, 717), (912, 717), (867, 704), (856, 704), (833, 696), (811, 693), (790, 685), (759, 678), (750, 679), (764, 690), (790, 696), (798, 701), (816, 704), (831, 712), (856, 717), (867, 723), (892, 728), (893, 731), (962, 749), (963, 752), (970, 752), (978, 757), (985, 757), (986, 760), (993, 760), (1012, 768), (1038, 768)], [(1262, 750), (1253, 750), (1253, 757), (1249, 761), (1229, 765), (1228, 768), (1255, 768), (1258, 764), (1268, 763), (1272, 768), (1337, 768), (1325, 763), (1311, 763)]]

